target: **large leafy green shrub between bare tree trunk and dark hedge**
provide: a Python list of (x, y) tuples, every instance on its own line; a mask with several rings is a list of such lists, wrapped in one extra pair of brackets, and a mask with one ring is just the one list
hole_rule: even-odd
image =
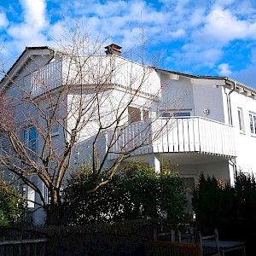
[[(90, 172), (90, 169), (89, 169)], [(90, 176), (90, 175), (89, 175)], [(102, 177), (104, 179), (104, 177)], [(65, 200), (88, 187), (88, 172), (73, 175)], [(185, 187), (177, 172), (157, 174), (148, 166), (132, 164), (111, 182), (88, 195), (70, 220), (71, 224), (115, 222), (138, 218), (167, 218), (172, 224), (183, 218)]]

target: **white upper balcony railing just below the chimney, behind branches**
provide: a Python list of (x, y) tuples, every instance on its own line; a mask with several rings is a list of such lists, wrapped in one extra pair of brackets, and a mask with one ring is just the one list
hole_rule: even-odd
[(139, 92), (154, 97), (160, 92), (160, 78), (154, 69), (117, 55), (63, 56), (32, 73), (32, 96), (37, 97), (51, 90), (85, 84), (104, 88), (118, 87), (129, 93)]

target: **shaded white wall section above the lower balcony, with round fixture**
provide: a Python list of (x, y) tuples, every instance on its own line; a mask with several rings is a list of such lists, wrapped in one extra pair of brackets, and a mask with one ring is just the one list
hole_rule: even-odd
[[(192, 79), (173, 74), (161, 74), (162, 110), (190, 110), (191, 115), (224, 122), (224, 100), (222, 96), (222, 80)], [(209, 114), (204, 115), (203, 110)]]

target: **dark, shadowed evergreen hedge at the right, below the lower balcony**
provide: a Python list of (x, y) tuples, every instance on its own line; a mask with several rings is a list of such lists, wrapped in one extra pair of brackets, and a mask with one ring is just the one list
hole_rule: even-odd
[[(196, 226), (202, 232), (218, 230), (233, 239), (256, 228), (256, 182), (253, 175), (239, 173), (234, 187), (215, 177), (204, 177), (193, 194)], [(245, 232), (246, 231), (246, 232)]]

